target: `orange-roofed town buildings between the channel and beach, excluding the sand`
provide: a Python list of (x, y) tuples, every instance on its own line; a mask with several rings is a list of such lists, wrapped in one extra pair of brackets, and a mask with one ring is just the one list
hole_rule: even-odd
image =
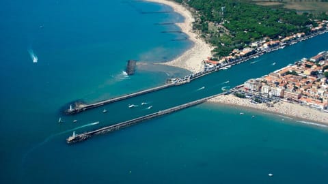
[(266, 102), (270, 106), (282, 100), (328, 112), (327, 77), (328, 52), (324, 51), (262, 78), (249, 79), (232, 93), (254, 104)]

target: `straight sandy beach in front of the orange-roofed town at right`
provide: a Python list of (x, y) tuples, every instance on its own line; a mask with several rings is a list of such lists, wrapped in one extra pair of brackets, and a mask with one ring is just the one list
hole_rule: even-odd
[(272, 112), (273, 114), (282, 114), (287, 117), (303, 119), (305, 121), (311, 121), (311, 122), (328, 125), (327, 112), (320, 112), (319, 110), (312, 109), (306, 106), (300, 106), (299, 104), (278, 102), (273, 107), (268, 107), (266, 104), (252, 104), (251, 102), (249, 102), (249, 99), (242, 99), (231, 94), (220, 95), (218, 97), (210, 99), (209, 102), (228, 104), (231, 106), (254, 108), (258, 110)]

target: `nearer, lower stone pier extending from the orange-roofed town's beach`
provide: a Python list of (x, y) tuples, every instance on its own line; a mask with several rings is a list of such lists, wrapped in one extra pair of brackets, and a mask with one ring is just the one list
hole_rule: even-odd
[(217, 97), (219, 95), (223, 95), (223, 93), (220, 93), (220, 94), (217, 94), (217, 95), (212, 95), (210, 97), (204, 97), (202, 99), (197, 99), (193, 102), (189, 102), (187, 104), (182, 104), (180, 106), (175, 106), (173, 108), (168, 108), (168, 109), (165, 109), (165, 110), (159, 110), (159, 111), (154, 112), (152, 114), (147, 114), (146, 116), (143, 116), (143, 117), (138, 117), (136, 119), (131, 119), (131, 120), (128, 120), (128, 121), (124, 121), (122, 123), (117, 123), (115, 125), (102, 127), (100, 129), (96, 129), (96, 130), (93, 130), (91, 132), (85, 132), (83, 134), (73, 134), (72, 136), (70, 136), (66, 139), (66, 142), (68, 144), (72, 144), (72, 143), (75, 143), (75, 142), (81, 142), (83, 140), (86, 140), (87, 138), (91, 138), (92, 136), (96, 136), (96, 135), (100, 135), (100, 134), (106, 134), (108, 132), (113, 132), (115, 130), (122, 129), (124, 127), (128, 127), (128, 126), (131, 126), (131, 125), (135, 125), (137, 123), (141, 123), (142, 121), (153, 119), (155, 117), (161, 117), (165, 114), (170, 114), (170, 113), (176, 112), (178, 110), (182, 110), (184, 108), (189, 108), (191, 106), (196, 106), (198, 104), (202, 104), (204, 102), (207, 102), (208, 99), (211, 99), (213, 97)]

